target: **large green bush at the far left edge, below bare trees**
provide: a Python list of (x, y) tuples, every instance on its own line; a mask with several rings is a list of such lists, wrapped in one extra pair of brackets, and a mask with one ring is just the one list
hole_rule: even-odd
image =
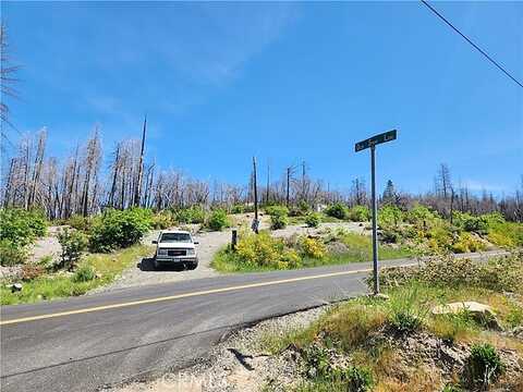
[(20, 208), (0, 209), (0, 241), (7, 240), (17, 246), (32, 244), (46, 234), (46, 219), (41, 211)]

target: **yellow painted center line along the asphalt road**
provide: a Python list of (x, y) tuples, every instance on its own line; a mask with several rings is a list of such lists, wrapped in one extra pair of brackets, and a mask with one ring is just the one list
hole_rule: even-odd
[[(413, 265), (415, 265), (415, 264), (413, 264)], [(406, 266), (412, 266), (412, 265), (404, 265), (404, 266), (406, 267)], [(401, 267), (403, 267), (403, 266), (401, 266)], [(204, 291), (197, 291), (197, 292), (192, 292), (192, 293), (168, 295), (168, 296), (162, 296), (162, 297), (132, 301), (132, 302), (120, 303), (120, 304), (94, 306), (94, 307), (88, 307), (88, 308), (83, 308), (83, 309), (58, 311), (58, 313), (47, 314), (47, 315), (22, 317), (22, 318), (11, 319), (11, 320), (2, 320), (2, 321), (0, 321), (0, 326), (14, 324), (14, 323), (35, 321), (35, 320), (44, 320), (44, 319), (49, 319), (49, 318), (54, 318), (54, 317), (82, 315), (82, 314), (93, 313), (93, 311), (119, 309), (119, 308), (124, 308), (124, 307), (129, 307), (129, 306), (136, 306), (136, 305), (156, 304), (156, 303), (160, 303), (160, 302), (188, 298), (188, 297), (199, 296), (199, 295), (227, 293), (227, 292), (245, 290), (245, 289), (255, 289), (255, 287), (264, 287), (264, 286), (276, 285), (276, 284), (301, 282), (301, 281), (306, 281), (306, 280), (312, 280), (312, 279), (321, 279), (321, 278), (332, 278), (332, 277), (341, 277), (341, 275), (348, 275), (348, 274), (356, 274), (356, 273), (362, 273), (362, 272), (369, 272), (372, 270), (373, 270), (372, 268), (366, 268), (366, 269), (352, 270), (352, 271), (321, 273), (321, 274), (316, 274), (316, 275), (281, 279), (281, 280), (269, 281), (269, 282), (260, 282), (260, 283), (250, 283), (250, 284), (242, 284), (242, 285), (235, 285), (235, 286), (222, 287), (222, 289), (204, 290)]]

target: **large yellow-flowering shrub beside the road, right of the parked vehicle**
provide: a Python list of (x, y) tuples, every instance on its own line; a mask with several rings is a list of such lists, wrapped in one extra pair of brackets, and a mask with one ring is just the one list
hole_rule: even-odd
[(242, 235), (234, 254), (241, 262), (254, 267), (288, 269), (301, 266), (296, 252), (285, 248), (282, 240), (273, 238), (267, 232)]

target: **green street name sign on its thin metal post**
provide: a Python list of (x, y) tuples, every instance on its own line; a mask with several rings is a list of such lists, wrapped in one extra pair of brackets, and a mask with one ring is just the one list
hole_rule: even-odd
[(373, 198), (373, 272), (374, 272), (374, 294), (379, 294), (378, 278), (378, 201), (376, 199), (376, 145), (396, 140), (397, 131), (392, 130), (368, 139), (356, 143), (354, 150), (356, 152), (370, 148), (370, 193)]

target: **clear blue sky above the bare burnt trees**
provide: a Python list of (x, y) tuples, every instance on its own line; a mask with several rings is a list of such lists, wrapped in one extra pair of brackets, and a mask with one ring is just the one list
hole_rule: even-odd
[[(523, 3), (433, 4), (523, 79)], [(501, 194), (523, 172), (523, 88), (419, 2), (2, 2), (2, 17), (23, 66), (11, 120), (47, 126), (53, 156), (95, 124), (109, 151), (147, 112), (148, 159), (199, 179), (243, 183), (256, 155), (348, 188), (369, 171), (354, 143), (390, 128), (380, 187), (426, 191), (447, 162)]]

